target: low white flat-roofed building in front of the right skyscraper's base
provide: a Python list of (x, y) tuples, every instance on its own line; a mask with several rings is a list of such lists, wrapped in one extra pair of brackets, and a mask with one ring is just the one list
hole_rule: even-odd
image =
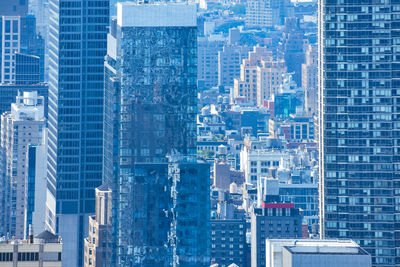
[(371, 255), (346, 239), (267, 239), (266, 267), (371, 267)]

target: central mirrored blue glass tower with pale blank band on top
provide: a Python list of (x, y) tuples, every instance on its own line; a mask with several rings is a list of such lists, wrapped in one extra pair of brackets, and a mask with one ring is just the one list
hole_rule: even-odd
[(196, 7), (119, 3), (105, 64), (104, 180), (115, 266), (209, 266), (209, 166), (196, 159)]

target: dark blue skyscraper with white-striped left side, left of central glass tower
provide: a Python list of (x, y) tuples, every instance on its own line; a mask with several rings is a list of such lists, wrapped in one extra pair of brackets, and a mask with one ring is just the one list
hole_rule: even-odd
[(63, 264), (74, 267), (83, 264), (88, 215), (102, 179), (109, 1), (51, 0), (49, 16), (49, 180), (57, 191)]

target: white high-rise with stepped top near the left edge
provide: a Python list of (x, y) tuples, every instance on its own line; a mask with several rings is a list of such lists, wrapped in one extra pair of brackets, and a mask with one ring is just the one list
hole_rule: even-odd
[[(1, 115), (1, 149), (3, 153), (3, 181), (8, 191), (2, 196), (4, 223), (3, 234), (23, 239), (28, 222), (28, 147), (41, 144), (46, 126), (44, 98), (37, 92), (24, 92), (11, 104), (11, 111)], [(39, 168), (46, 168), (41, 161)], [(4, 201), (4, 202), (3, 202)]]

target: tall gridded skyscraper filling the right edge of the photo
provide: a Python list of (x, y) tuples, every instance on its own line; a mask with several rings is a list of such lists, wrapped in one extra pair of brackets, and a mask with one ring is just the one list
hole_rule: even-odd
[(400, 264), (400, 3), (321, 1), (320, 230)]

